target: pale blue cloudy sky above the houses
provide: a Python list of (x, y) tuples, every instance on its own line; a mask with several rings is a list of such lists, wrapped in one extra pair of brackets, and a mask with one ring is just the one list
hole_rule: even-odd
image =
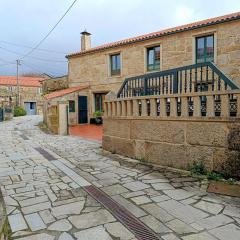
[[(16, 59), (55, 25), (73, 0), (0, 0), (0, 75), (16, 74)], [(78, 0), (20, 74), (67, 74), (66, 54), (80, 51), (80, 33), (92, 46), (240, 11), (239, 0)], [(21, 46), (17, 46), (21, 45)]]

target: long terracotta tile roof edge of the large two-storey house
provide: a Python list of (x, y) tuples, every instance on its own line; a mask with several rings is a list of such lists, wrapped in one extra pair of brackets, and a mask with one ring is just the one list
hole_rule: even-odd
[(168, 29), (164, 29), (164, 30), (161, 30), (161, 31), (158, 31), (158, 32), (152, 32), (152, 33), (148, 33), (148, 34), (145, 34), (145, 35), (120, 40), (120, 41), (117, 41), (117, 42), (107, 43), (107, 44), (104, 44), (104, 45), (101, 45), (101, 46), (90, 48), (90, 49), (85, 50), (85, 51), (69, 54), (66, 57), (79, 56), (79, 55), (83, 55), (83, 54), (87, 54), (87, 53), (91, 53), (91, 52), (96, 52), (96, 51), (107, 49), (107, 48), (113, 48), (113, 47), (117, 47), (117, 46), (127, 45), (127, 44), (131, 44), (131, 43), (134, 43), (134, 42), (144, 41), (144, 40), (148, 40), (148, 39), (151, 39), (151, 38), (157, 38), (157, 37), (161, 37), (161, 36), (164, 36), (164, 35), (169, 35), (169, 34), (181, 32), (181, 31), (187, 31), (187, 30), (191, 30), (191, 29), (195, 29), (195, 28), (199, 28), (199, 27), (214, 25), (214, 24), (218, 24), (218, 23), (222, 23), (222, 22), (226, 22), (226, 21), (237, 20), (237, 19), (240, 19), (240, 12), (227, 14), (227, 15), (220, 16), (220, 17), (215, 17), (215, 18), (209, 18), (209, 19), (206, 19), (206, 20), (203, 20), (203, 21), (198, 21), (198, 22), (194, 22), (194, 23), (190, 23), (190, 24), (185, 24), (185, 25), (181, 25), (181, 26), (178, 26), (178, 27), (174, 27), (174, 28), (168, 28)]

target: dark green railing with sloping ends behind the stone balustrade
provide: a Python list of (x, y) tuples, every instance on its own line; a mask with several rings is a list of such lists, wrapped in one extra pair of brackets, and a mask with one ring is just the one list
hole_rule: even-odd
[(117, 97), (173, 95), (239, 89), (212, 62), (198, 63), (125, 79)]

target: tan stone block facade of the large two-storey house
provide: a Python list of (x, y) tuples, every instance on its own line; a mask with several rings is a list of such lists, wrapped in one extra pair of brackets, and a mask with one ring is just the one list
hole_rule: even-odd
[[(69, 87), (89, 85), (88, 112), (92, 117), (94, 93), (117, 92), (125, 78), (147, 72), (146, 49), (160, 45), (160, 70), (195, 63), (195, 38), (214, 34), (214, 62), (234, 82), (240, 85), (240, 21), (230, 21), (195, 30), (169, 34), (159, 38), (115, 46), (80, 55), (70, 55)], [(121, 74), (110, 75), (110, 55), (120, 53)], [(77, 117), (77, 115), (76, 115)]]

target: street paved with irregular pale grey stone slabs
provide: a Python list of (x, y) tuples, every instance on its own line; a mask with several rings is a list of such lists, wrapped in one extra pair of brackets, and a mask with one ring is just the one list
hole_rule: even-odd
[(97, 141), (45, 134), (41, 121), (0, 123), (0, 184), (13, 239), (240, 239), (240, 199), (103, 153)]

